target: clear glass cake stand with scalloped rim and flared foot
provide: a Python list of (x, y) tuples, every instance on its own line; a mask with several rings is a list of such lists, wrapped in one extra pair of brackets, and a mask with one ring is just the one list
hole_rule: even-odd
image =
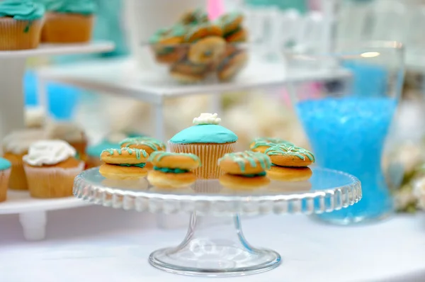
[[(346, 208), (361, 199), (356, 177), (330, 169), (312, 169), (308, 181), (271, 181), (254, 190), (234, 190), (217, 180), (198, 180), (187, 188), (160, 189), (147, 179), (105, 179), (98, 168), (76, 177), (74, 195), (112, 208), (151, 213), (191, 213), (186, 238), (177, 247), (149, 256), (152, 266), (193, 276), (242, 276), (274, 269), (280, 254), (252, 247), (242, 233), (240, 215), (314, 214)], [(208, 232), (215, 217), (231, 216), (220, 234)]]

